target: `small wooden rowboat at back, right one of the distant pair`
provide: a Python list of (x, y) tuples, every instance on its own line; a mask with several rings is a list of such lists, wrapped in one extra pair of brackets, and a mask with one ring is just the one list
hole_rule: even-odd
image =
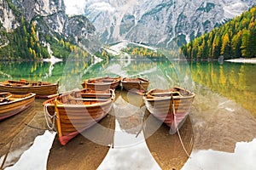
[(142, 77), (137, 78), (123, 78), (121, 80), (122, 87), (125, 90), (133, 93), (144, 94), (148, 91), (149, 81)]

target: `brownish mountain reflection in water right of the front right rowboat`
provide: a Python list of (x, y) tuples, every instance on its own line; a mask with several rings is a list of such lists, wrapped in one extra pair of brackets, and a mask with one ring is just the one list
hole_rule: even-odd
[(256, 137), (256, 119), (241, 105), (198, 85), (190, 114), (195, 150), (233, 152), (236, 142)]

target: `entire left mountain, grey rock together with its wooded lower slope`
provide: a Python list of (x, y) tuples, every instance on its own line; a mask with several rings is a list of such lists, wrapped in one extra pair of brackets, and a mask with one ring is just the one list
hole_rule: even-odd
[[(62, 0), (0, 1), (0, 60), (87, 58), (95, 28), (82, 15), (68, 17)], [(84, 43), (83, 43), (84, 42)]]

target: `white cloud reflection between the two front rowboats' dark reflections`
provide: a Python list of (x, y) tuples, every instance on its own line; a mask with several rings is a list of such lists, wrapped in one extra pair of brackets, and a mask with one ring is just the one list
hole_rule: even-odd
[[(118, 122), (116, 124), (115, 131), (119, 133), (115, 135), (114, 141), (118, 146), (123, 147), (111, 148), (97, 169), (160, 169), (150, 154), (147, 144), (143, 142), (143, 132), (136, 138), (135, 135), (122, 131)], [(127, 143), (132, 145), (128, 147)]]

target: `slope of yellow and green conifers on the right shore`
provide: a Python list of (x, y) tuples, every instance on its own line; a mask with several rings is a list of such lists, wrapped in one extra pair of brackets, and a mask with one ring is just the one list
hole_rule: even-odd
[(183, 45), (187, 59), (224, 59), (256, 57), (256, 6), (223, 26)]

